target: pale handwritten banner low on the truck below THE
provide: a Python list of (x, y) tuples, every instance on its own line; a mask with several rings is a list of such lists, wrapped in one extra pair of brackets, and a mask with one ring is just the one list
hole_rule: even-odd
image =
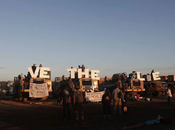
[(87, 102), (100, 102), (105, 91), (101, 92), (87, 92), (85, 98)]

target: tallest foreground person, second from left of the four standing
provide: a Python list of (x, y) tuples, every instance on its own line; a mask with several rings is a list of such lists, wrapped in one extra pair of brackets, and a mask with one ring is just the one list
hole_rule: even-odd
[(74, 92), (74, 110), (76, 116), (76, 124), (79, 124), (79, 117), (81, 117), (81, 123), (84, 124), (84, 113), (83, 113), (83, 92), (80, 90), (80, 86), (76, 84), (76, 91)]

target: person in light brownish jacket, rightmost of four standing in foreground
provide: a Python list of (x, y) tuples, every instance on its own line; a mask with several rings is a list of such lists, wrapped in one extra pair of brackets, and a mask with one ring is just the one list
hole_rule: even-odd
[(119, 114), (122, 114), (121, 107), (122, 107), (122, 91), (119, 89), (120, 84), (116, 84), (116, 88), (112, 92), (112, 97), (113, 97), (113, 114), (116, 114), (116, 108), (118, 106)]

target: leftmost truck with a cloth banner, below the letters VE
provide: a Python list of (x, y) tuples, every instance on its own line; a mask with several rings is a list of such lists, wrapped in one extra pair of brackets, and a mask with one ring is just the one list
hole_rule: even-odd
[[(14, 77), (14, 92), (13, 92), (14, 98), (18, 99), (19, 101), (21, 100), (27, 101), (29, 97), (31, 99), (40, 98), (41, 100), (46, 100), (48, 96), (40, 95), (38, 97), (38, 95), (33, 95), (33, 96), (29, 96), (29, 95), (35, 93), (36, 91), (38, 92), (38, 94), (44, 93), (44, 91), (46, 91), (46, 93), (48, 93), (49, 96), (52, 95), (51, 71), (48, 71), (47, 73), (49, 75), (49, 78), (43, 78), (39, 76), (31, 77), (29, 73), (27, 76), (23, 76), (23, 74), (21, 74), (21, 75), (18, 75), (18, 77)], [(43, 87), (42, 86), (43, 84), (47, 86), (47, 88), (45, 87), (45, 90), (44, 89), (41, 90), (41, 87)], [(32, 89), (31, 89), (31, 85), (33, 85)]]

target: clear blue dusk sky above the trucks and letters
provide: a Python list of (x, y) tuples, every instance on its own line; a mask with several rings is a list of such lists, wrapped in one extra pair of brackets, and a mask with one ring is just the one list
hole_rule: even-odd
[(0, 0), (0, 81), (28, 67), (55, 77), (175, 74), (175, 0)]

